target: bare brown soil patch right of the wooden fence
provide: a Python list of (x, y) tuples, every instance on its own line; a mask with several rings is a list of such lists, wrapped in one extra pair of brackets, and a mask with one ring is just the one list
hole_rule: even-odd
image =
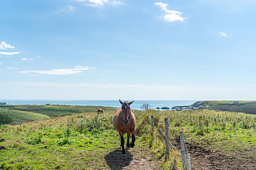
[[(175, 142), (179, 145), (179, 138)], [(187, 150), (191, 154), (192, 170), (256, 170), (256, 148), (223, 152), (187, 143)]]

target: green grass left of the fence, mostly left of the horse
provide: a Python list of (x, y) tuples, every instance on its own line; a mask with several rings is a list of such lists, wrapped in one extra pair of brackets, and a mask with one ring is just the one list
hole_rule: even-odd
[[(112, 126), (113, 112), (95, 115), (25, 123), (19, 130), (0, 126), (0, 138), (6, 140), (0, 144), (7, 148), (0, 151), (0, 169), (118, 169), (116, 159), (132, 160), (132, 155), (121, 158), (121, 151), (116, 151), (120, 136)], [(140, 141), (137, 137), (134, 149), (148, 148), (148, 143)]]

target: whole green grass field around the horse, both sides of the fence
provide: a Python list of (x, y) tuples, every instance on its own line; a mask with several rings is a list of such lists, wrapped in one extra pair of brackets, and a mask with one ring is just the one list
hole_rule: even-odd
[[(170, 159), (165, 160), (164, 141), (157, 133), (157, 128), (164, 131), (165, 117), (170, 120), (171, 142), (177, 150), (179, 131), (184, 131), (188, 151), (192, 154), (192, 169), (206, 166), (202, 163), (207, 160), (200, 160), (208, 150), (221, 153), (211, 155), (217, 156), (216, 160), (220, 159), (218, 166), (235, 167), (237, 162), (242, 162), (242, 169), (255, 168), (255, 115), (213, 110), (135, 111), (136, 145), (127, 151), (127, 157), (121, 157), (121, 151), (117, 150), (120, 146), (120, 137), (111, 123), (113, 114), (114, 111), (107, 111), (97, 117), (96, 113), (79, 113), (24, 123), (20, 128), (2, 125), (0, 138), (4, 138), (5, 141), (0, 142), (0, 146), (5, 149), (0, 151), (0, 169), (121, 170), (128, 167), (136, 156), (143, 154), (139, 159), (151, 160), (152, 167), (165, 170), (170, 169), (171, 161), (176, 156), (176, 169), (181, 170), (179, 151), (171, 151)], [(150, 123), (147, 118), (151, 114), (155, 117), (153, 143), (150, 143)], [(202, 152), (195, 152), (194, 146), (203, 148)], [(221, 160), (223, 158), (229, 161), (227, 165)], [(199, 163), (196, 159), (199, 159)]]

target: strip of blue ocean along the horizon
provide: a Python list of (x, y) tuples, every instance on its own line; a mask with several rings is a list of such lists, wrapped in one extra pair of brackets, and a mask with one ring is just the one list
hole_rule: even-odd
[[(124, 100), (125, 101), (125, 100)], [(123, 102), (124, 102), (123, 101)], [(6, 104), (61, 104), (61, 105), (81, 105), (81, 106), (109, 106), (120, 107), (121, 104), (118, 100), (0, 100)], [(131, 102), (131, 101), (128, 101)], [(140, 110), (143, 103), (149, 103), (151, 109), (156, 107), (173, 107), (177, 105), (190, 105), (196, 101), (161, 101), (161, 100), (135, 100), (130, 107), (132, 109)]]

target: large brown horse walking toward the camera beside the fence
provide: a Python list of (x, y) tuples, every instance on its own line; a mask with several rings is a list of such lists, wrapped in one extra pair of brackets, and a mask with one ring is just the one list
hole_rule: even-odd
[[(120, 108), (116, 110), (116, 113), (113, 118), (113, 126), (118, 131), (120, 137), (121, 137), (121, 146), (122, 147), (122, 154), (121, 156), (126, 156), (125, 151), (125, 139), (124, 134), (127, 133), (127, 148), (131, 147), (133, 148), (135, 146), (135, 125), (136, 125), (136, 119), (134, 116), (133, 110), (130, 108), (130, 104), (132, 102), (122, 102), (119, 100), (119, 102), (122, 104)], [(129, 137), (130, 134), (131, 142), (129, 143)]]

